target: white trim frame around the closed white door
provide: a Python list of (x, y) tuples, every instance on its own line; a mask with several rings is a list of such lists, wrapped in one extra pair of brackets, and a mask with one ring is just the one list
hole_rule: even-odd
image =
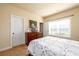
[[(16, 16), (16, 15), (11, 15), (10, 17), (11, 17), (11, 20), (10, 20), (10, 39), (11, 39), (11, 48), (13, 48), (14, 46), (13, 46), (13, 42), (12, 42), (12, 17), (19, 17), (19, 18), (22, 18), (23, 19), (23, 25), (24, 25), (24, 17), (21, 17), (21, 16)], [(23, 26), (23, 32), (25, 32), (24, 31), (24, 26)], [(24, 40), (25, 40), (25, 34), (24, 34)], [(24, 41), (24, 43), (25, 43), (25, 41)]]

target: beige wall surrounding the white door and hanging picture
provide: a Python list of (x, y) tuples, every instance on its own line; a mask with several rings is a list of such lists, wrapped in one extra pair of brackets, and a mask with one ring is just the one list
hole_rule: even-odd
[(24, 17), (24, 29), (29, 26), (28, 20), (37, 21), (37, 26), (39, 28), (39, 22), (43, 22), (42, 17), (28, 12), (24, 9), (18, 8), (9, 4), (0, 4), (0, 51), (11, 48), (11, 15)]

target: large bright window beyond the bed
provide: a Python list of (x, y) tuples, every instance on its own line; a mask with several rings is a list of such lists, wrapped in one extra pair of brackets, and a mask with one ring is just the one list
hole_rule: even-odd
[(51, 21), (49, 25), (49, 35), (58, 37), (71, 37), (71, 17)]

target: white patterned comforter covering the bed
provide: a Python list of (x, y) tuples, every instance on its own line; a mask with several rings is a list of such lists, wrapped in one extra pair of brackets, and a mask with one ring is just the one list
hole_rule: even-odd
[(48, 36), (31, 41), (28, 50), (34, 56), (79, 56), (79, 42)]

